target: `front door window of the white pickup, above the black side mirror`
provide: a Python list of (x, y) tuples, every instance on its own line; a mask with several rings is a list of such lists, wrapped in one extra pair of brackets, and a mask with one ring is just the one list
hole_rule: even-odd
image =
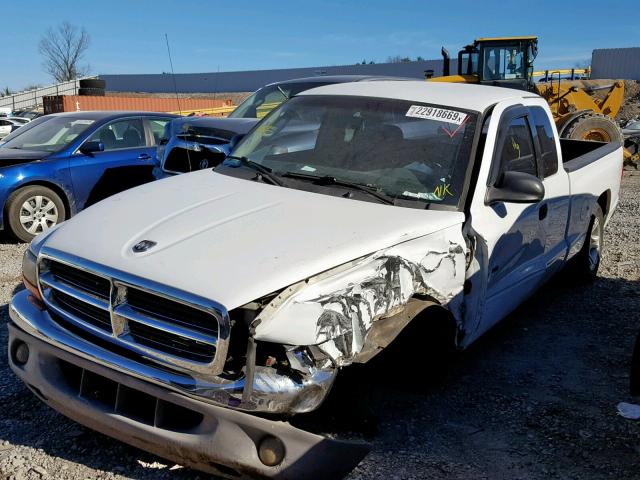
[(501, 172), (538, 175), (533, 139), (526, 117), (511, 120), (500, 151)]

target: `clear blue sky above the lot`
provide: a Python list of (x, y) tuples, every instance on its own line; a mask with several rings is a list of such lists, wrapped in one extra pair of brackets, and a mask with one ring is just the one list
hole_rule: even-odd
[[(538, 35), (536, 68), (588, 63), (594, 48), (640, 46), (638, 0), (2, 2), (0, 87), (48, 84), (38, 41), (62, 21), (91, 37), (92, 74), (253, 70), (454, 54), (478, 36)], [(578, 2), (576, 2), (578, 3)], [(600, 13), (600, 14), (598, 14)], [(10, 42), (10, 43), (8, 43)]]

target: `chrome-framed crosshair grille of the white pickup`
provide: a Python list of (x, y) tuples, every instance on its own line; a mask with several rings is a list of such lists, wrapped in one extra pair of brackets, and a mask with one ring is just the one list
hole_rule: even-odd
[(214, 302), (60, 252), (41, 253), (38, 276), (54, 321), (192, 374), (222, 373), (229, 320)]

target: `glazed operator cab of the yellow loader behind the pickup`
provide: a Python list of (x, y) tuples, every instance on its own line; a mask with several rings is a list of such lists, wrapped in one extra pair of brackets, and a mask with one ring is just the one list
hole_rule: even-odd
[(483, 85), (531, 90), (537, 37), (478, 38), (458, 52), (458, 75)]

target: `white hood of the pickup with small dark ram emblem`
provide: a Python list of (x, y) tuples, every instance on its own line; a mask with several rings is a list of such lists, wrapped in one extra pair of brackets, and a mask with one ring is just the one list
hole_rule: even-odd
[[(230, 310), (463, 220), (458, 212), (351, 200), (203, 170), (102, 201), (61, 225), (44, 245)], [(134, 253), (141, 240), (157, 245)]]

